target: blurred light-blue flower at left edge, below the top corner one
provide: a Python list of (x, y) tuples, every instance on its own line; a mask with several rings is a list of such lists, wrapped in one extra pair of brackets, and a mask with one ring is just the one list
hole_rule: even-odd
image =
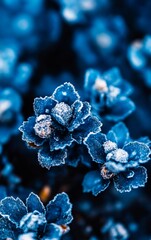
[(0, 84), (3, 87), (11, 86), (25, 93), (33, 73), (33, 64), (19, 63), (20, 55), (21, 52), (16, 41), (0, 42)]

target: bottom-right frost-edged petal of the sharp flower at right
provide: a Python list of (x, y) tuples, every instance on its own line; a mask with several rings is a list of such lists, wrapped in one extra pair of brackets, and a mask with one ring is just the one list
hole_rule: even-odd
[(114, 186), (117, 191), (130, 192), (133, 188), (144, 187), (147, 182), (147, 171), (145, 167), (138, 167), (132, 177), (127, 177), (124, 173), (114, 177)]

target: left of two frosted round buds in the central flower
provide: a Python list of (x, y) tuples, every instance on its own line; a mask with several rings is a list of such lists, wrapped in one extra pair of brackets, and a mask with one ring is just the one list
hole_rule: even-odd
[(52, 132), (52, 119), (49, 115), (42, 114), (36, 118), (35, 134), (40, 138), (49, 138)]

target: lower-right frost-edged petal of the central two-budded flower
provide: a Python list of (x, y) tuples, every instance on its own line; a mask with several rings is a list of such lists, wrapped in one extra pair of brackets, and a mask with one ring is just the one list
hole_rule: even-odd
[(101, 126), (102, 123), (96, 117), (90, 116), (73, 132), (72, 136), (78, 143), (82, 143), (89, 133), (100, 132)]

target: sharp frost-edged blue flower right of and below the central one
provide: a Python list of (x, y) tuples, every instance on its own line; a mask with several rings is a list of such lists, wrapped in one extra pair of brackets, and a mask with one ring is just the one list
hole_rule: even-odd
[(85, 144), (100, 170), (86, 174), (83, 181), (84, 192), (92, 191), (97, 195), (109, 186), (111, 179), (119, 192), (144, 187), (147, 171), (140, 164), (150, 160), (151, 151), (148, 144), (132, 141), (123, 123), (116, 124), (107, 135), (89, 134)]

